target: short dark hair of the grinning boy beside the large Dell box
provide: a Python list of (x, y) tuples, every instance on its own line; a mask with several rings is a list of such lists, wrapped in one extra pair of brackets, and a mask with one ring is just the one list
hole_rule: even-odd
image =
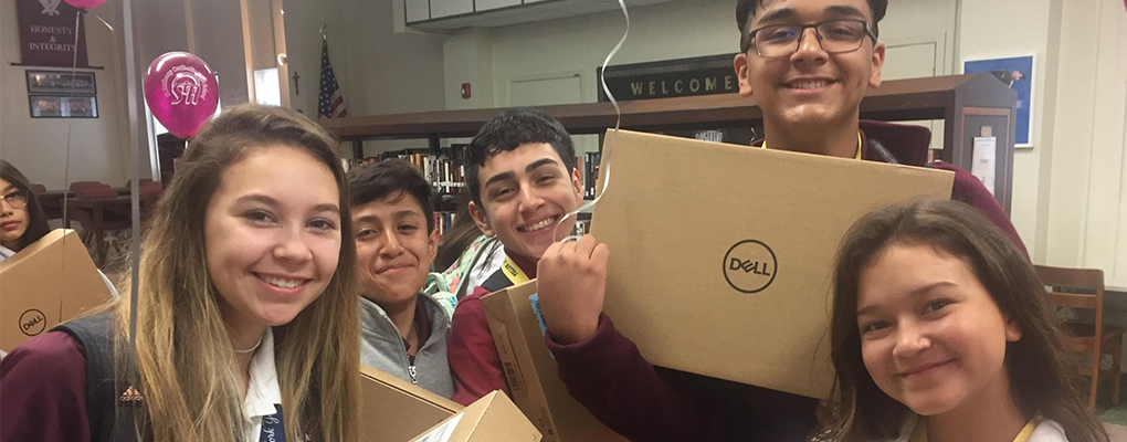
[(497, 153), (509, 152), (527, 143), (551, 144), (567, 167), (567, 173), (575, 171), (575, 144), (560, 122), (536, 109), (509, 109), (481, 126), (481, 131), (470, 142), (470, 149), (465, 154), (465, 183), (469, 185), (473, 204), (485, 210), (481, 205), (481, 183), (478, 183), (478, 173), (485, 167), (486, 161)]

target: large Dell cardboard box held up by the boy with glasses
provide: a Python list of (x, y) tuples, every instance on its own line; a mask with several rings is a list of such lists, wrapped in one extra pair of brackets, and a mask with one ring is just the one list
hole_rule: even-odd
[(831, 277), (845, 231), (873, 209), (947, 200), (955, 179), (629, 131), (606, 144), (613, 175), (592, 233), (611, 249), (614, 326), (656, 365), (818, 398), (833, 381)]

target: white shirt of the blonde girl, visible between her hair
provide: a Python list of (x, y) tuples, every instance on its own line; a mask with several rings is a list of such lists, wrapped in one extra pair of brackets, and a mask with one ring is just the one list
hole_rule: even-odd
[[(247, 419), (245, 441), (281, 442), (285, 440), (282, 416), (282, 390), (278, 373), (274, 366), (274, 332), (267, 327), (263, 343), (250, 360), (250, 381), (247, 397), (242, 400), (242, 414)], [(266, 432), (263, 432), (266, 419)]]

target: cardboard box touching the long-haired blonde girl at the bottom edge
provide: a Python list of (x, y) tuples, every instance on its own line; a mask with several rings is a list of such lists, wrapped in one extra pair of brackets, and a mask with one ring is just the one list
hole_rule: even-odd
[(403, 442), (464, 407), (394, 375), (361, 365), (360, 440)]

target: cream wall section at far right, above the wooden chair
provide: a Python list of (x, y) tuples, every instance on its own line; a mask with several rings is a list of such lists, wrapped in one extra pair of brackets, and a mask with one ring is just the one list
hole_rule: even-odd
[(1119, 0), (1062, 3), (1046, 262), (1127, 286), (1127, 12)]

